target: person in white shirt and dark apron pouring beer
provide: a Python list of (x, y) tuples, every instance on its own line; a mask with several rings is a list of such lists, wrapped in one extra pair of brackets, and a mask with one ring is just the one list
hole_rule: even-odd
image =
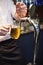
[[(22, 58), (19, 44), (10, 36), (13, 25), (13, 18), (17, 21), (25, 17), (27, 6), (23, 2), (12, 0), (0, 0), (0, 65), (22, 65)], [(25, 65), (25, 63), (23, 64)]]

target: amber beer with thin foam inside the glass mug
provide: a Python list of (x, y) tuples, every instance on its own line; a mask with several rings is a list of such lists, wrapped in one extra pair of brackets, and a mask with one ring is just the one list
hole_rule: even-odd
[(11, 28), (11, 37), (13, 39), (18, 39), (20, 37), (20, 27), (16, 26)]

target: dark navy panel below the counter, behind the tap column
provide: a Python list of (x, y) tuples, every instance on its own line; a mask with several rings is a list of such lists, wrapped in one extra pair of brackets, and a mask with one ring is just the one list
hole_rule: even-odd
[[(34, 52), (34, 32), (22, 34), (17, 43), (20, 44), (21, 52), (26, 63), (33, 61)], [(39, 35), (39, 50), (36, 59), (37, 65), (43, 65), (43, 30)]]

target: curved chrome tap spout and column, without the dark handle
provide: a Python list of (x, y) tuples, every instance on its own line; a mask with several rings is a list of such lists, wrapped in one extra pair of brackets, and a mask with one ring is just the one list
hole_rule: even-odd
[(31, 17), (25, 17), (25, 18), (21, 18), (21, 20), (28, 20), (29, 21), (29, 24), (32, 24), (33, 28), (34, 28), (34, 44), (35, 44), (35, 47), (34, 47), (34, 57), (33, 57), (33, 65), (36, 65), (36, 56), (37, 56), (37, 52), (38, 52), (38, 46), (39, 46), (39, 43), (38, 43), (38, 40), (39, 40), (39, 32), (40, 32), (40, 26), (39, 26), (39, 23), (38, 21), (34, 21), (31, 19)]

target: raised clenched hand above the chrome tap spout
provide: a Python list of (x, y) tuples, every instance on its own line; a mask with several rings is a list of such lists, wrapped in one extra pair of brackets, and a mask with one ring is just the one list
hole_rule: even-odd
[(17, 2), (16, 13), (20, 17), (25, 17), (27, 14), (27, 6), (23, 2)]

